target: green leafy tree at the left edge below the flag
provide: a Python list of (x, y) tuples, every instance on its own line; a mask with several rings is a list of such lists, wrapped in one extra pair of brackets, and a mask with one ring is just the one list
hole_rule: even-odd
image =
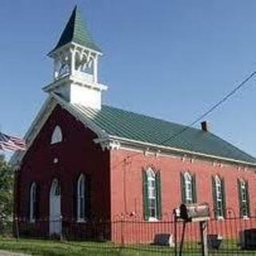
[(0, 232), (10, 228), (13, 213), (14, 172), (0, 155)]

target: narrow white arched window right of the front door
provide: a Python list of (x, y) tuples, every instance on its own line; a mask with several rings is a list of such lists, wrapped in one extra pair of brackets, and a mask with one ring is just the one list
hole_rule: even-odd
[(82, 222), (86, 217), (86, 178), (83, 174), (78, 178), (77, 194), (77, 220), (78, 222)]

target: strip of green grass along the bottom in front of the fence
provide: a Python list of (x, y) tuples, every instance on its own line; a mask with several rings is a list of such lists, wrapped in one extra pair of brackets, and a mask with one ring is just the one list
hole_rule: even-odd
[[(198, 246), (196, 250), (185, 249), (182, 255), (201, 255)], [(174, 250), (159, 246), (127, 246), (120, 248), (110, 242), (58, 242), (39, 239), (20, 239), (18, 242), (13, 238), (0, 238), (0, 250), (11, 250), (30, 255), (40, 256), (160, 256), (174, 255)], [(241, 251), (237, 248), (211, 252), (210, 255), (256, 255), (255, 251)]]

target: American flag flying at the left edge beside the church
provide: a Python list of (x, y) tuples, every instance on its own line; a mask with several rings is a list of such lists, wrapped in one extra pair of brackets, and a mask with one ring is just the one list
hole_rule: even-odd
[(0, 132), (0, 150), (26, 150), (26, 142), (21, 138), (9, 136)]

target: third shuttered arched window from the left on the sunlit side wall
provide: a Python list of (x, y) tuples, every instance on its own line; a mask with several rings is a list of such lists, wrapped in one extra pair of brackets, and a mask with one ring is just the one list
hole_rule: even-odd
[(225, 217), (225, 185), (224, 179), (221, 179), (216, 175), (214, 177), (214, 212), (217, 218)]

